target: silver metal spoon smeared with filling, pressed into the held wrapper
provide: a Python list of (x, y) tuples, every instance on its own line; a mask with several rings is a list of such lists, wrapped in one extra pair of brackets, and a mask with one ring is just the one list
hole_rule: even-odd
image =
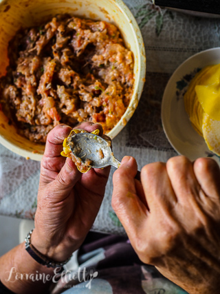
[[(69, 140), (69, 147), (83, 164), (89, 160), (89, 167), (94, 169), (102, 169), (109, 165), (118, 168), (121, 164), (113, 155), (111, 141), (91, 133), (74, 134)], [(140, 171), (137, 171), (135, 178), (140, 180)]]

